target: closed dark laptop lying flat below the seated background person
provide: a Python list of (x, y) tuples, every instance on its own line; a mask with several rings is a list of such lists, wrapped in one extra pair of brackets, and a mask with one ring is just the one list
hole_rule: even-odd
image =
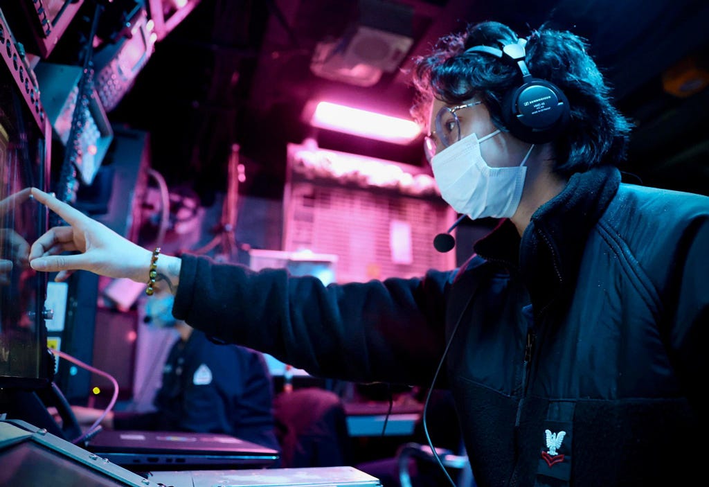
[(274, 465), (277, 450), (220, 433), (102, 430), (86, 449), (127, 469), (246, 469)]

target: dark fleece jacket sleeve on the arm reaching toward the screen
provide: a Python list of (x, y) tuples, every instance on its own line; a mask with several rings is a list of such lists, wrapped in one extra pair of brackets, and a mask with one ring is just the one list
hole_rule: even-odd
[(185, 254), (173, 314), (315, 376), (428, 385), (445, 347), (453, 276), (324, 286), (285, 269)]

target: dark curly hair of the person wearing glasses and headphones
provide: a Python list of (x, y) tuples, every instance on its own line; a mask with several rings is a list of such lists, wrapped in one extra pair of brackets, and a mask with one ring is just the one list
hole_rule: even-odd
[[(462, 33), (440, 38), (430, 55), (414, 59), (417, 95), (412, 115), (419, 123), (428, 123), (433, 97), (458, 104), (477, 96), (493, 123), (509, 131), (501, 103), (506, 92), (520, 84), (518, 67), (481, 52), (462, 54), (476, 45), (501, 49), (517, 40), (512, 29), (493, 21), (471, 24)], [(586, 40), (573, 33), (544, 27), (533, 31), (525, 46), (532, 76), (552, 82), (569, 99), (569, 123), (554, 142), (554, 170), (563, 177), (601, 164), (619, 164), (630, 135), (630, 122), (610, 103), (610, 89), (587, 47)]]

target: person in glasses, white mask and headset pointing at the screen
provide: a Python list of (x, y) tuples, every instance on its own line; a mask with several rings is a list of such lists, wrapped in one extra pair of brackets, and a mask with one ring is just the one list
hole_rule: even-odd
[(148, 291), (173, 293), (172, 314), (207, 335), (318, 376), (450, 388), (479, 486), (690, 483), (707, 422), (709, 197), (621, 181), (630, 123), (587, 48), (489, 21), (416, 60), (442, 197), (500, 219), (453, 271), (323, 286), (162, 255), (35, 190), (68, 225), (33, 243), (30, 265), (137, 282), (150, 269)]

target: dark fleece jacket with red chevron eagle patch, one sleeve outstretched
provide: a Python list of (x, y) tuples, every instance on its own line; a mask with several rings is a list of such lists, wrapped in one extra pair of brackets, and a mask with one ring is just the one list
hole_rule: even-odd
[[(575, 174), (452, 272), (323, 286), (184, 256), (174, 315), (320, 376), (450, 387), (479, 486), (700, 478), (709, 198)], [(434, 439), (435, 441), (435, 439)]]

